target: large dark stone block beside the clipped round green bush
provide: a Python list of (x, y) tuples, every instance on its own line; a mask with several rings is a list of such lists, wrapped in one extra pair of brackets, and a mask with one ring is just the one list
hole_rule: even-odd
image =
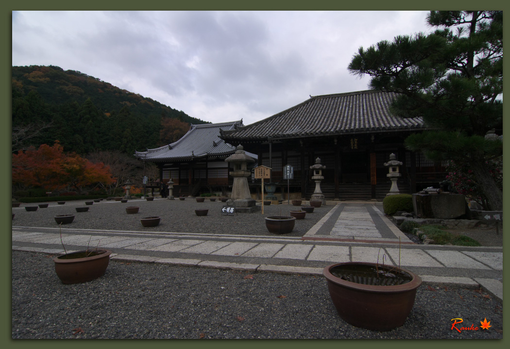
[(466, 214), (466, 197), (461, 194), (413, 194), (413, 208), (420, 218), (453, 219)]

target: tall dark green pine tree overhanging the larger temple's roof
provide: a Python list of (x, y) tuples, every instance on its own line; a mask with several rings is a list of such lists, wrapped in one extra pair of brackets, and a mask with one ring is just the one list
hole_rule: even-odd
[(502, 156), (502, 143), (484, 136), (502, 129), (503, 13), (431, 11), (427, 22), (437, 30), (361, 47), (348, 69), (372, 76), (372, 89), (398, 93), (395, 114), (421, 117), (433, 129), (407, 138), (408, 149), (469, 164), (488, 208), (502, 210), (487, 166)]

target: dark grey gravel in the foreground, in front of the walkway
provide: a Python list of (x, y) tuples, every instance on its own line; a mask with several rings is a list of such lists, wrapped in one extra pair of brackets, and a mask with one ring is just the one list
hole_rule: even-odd
[[(12, 251), (12, 338), (502, 338), (502, 304), (472, 289), (422, 285), (406, 323), (377, 332), (345, 323), (322, 277), (112, 260), (64, 285), (51, 257)], [(458, 333), (452, 318), (492, 327)]]

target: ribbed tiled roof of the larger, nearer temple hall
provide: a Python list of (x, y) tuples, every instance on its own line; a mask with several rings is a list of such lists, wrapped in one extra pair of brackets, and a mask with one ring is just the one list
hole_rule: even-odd
[(314, 96), (267, 119), (222, 132), (221, 138), (263, 140), (423, 128), (421, 118), (402, 119), (390, 113), (395, 97), (374, 90)]

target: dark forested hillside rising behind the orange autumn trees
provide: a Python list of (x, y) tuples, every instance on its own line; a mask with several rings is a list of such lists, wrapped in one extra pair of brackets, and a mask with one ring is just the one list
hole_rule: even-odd
[(205, 123), (79, 71), (12, 67), (13, 152), (58, 140), (66, 152), (80, 155), (132, 155), (179, 139), (190, 124)]

